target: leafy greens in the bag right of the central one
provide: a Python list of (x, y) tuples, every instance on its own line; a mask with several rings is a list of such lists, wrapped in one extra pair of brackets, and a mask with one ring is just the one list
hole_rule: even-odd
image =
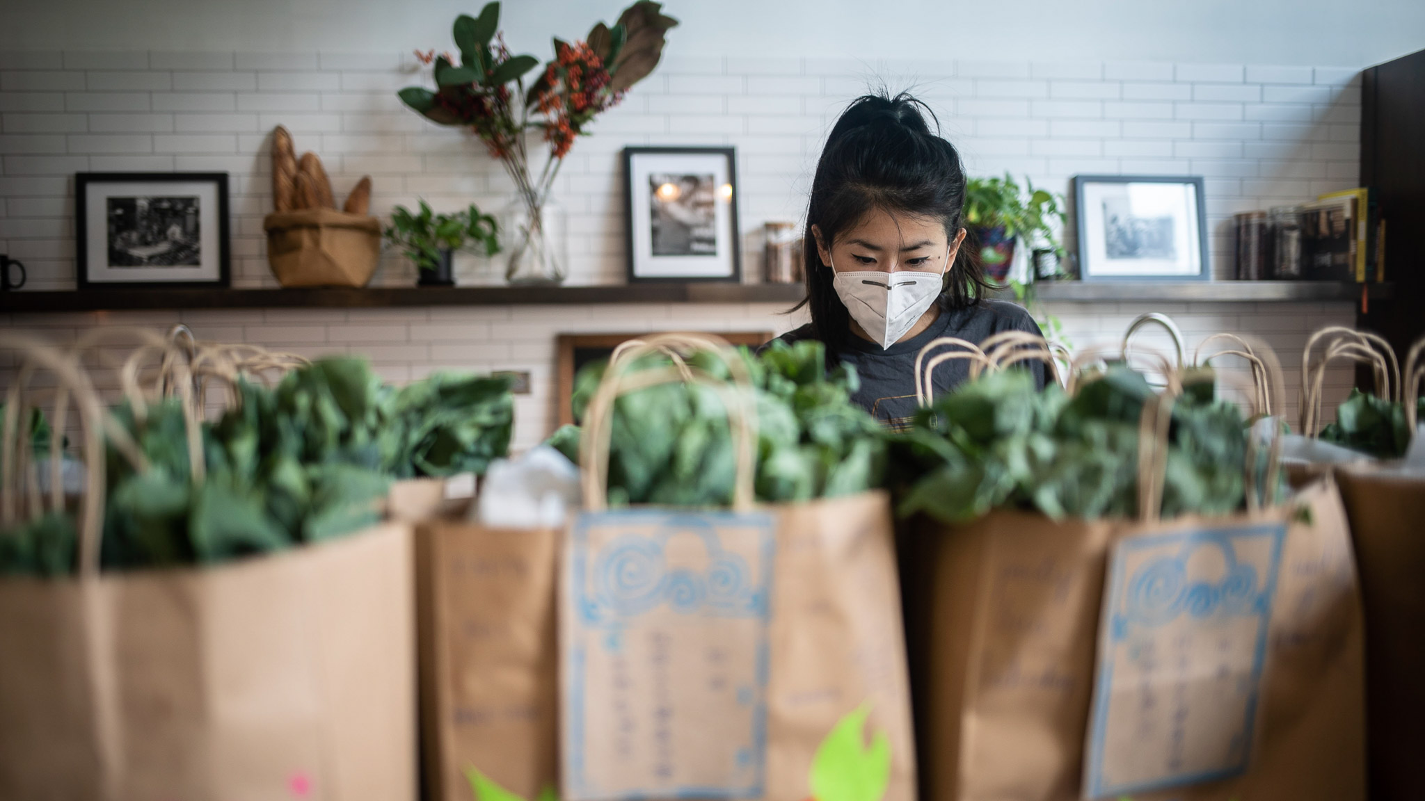
[[(1042, 392), (1023, 371), (988, 373), (922, 409), (895, 435), (901, 515), (963, 522), (996, 507), (1050, 517), (1137, 512), (1139, 418), (1153, 398), (1123, 365), (1076, 398)], [(1244, 503), (1247, 435), (1240, 410), (1200, 391), (1173, 405), (1163, 516), (1228, 513)]]

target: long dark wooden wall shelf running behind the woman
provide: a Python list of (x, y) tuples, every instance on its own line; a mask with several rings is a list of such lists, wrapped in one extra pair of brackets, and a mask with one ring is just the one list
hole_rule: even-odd
[[(1357, 301), (1358, 284), (1324, 281), (1213, 282), (1043, 282), (1047, 302), (1292, 302)], [(1389, 284), (1369, 285), (1372, 299), (1387, 299)], [(801, 284), (617, 284), (601, 286), (378, 286), (366, 289), (86, 289), (70, 292), (4, 292), (0, 312), (90, 312), (128, 309), (259, 309), (259, 308), (385, 308), (506, 306), (579, 304), (795, 304)]]

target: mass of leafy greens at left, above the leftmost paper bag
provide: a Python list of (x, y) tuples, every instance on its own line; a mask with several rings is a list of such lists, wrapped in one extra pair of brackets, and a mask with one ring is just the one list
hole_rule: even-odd
[[(437, 373), (395, 389), (351, 358), (314, 362), (272, 389), (239, 382), (238, 393), (238, 406), (200, 425), (201, 482), (181, 400), (113, 409), (147, 466), (105, 453), (104, 569), (212, 564), (361, 530), (379, 519), (392, 477), (483, 472), (513, 425), (507, 379)], [(66, 574), (74, 543), (68, 516), (0, 533), (0, 574)]]

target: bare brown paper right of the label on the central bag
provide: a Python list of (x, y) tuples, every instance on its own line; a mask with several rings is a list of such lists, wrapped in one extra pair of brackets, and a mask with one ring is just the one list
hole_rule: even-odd
[(861, 704), (891, 744), (886, 801), (916, 797), (899, 577), (885, 492), (771, 506), (777, 515), (768, 774), (762, 798), (801, 801), (826, 733)]

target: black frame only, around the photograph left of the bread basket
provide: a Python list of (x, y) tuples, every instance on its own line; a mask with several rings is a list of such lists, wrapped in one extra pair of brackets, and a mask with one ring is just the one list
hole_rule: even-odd
[[(212, 184), (217, 197), (217, 277), (212, 279), (165, 281), (141, 278), (114, 281), (91, 275), (94, 247), (91, 247), (88, 200), (95, 187), (105, 184), (154, 184), (161, 191), (165, 184)], [(74, 277), (80, 289), (138, 289), (138, 288), (227, 288), (232, 284), (231, 212), (227, 172), (76, 172), (74, 174)], [(101, 242), (107, 265), (108, 242)]]

